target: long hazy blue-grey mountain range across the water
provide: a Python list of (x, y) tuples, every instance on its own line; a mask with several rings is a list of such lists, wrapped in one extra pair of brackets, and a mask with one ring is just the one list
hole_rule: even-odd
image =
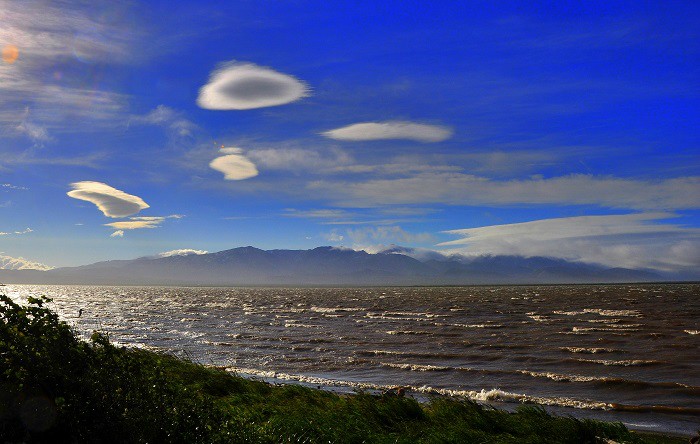
[[(344, 248), (260, 250), (143, 257), (53, 270), (0, 270), (0, 282), (96, 285), (470, 285), (676, 280), (649, 270), (520, 256), (376, 254)], [(411, 257), (416, 256), (419, 259)]]

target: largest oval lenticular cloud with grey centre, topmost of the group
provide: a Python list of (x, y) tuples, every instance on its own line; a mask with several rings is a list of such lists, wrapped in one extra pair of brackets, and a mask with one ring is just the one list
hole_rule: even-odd
[(284, 105), (309, 95), (295, 77), (253, 63), (230, 62), (213, 71), (199, 90), (197, 104), (213, 110), (245, 110)]

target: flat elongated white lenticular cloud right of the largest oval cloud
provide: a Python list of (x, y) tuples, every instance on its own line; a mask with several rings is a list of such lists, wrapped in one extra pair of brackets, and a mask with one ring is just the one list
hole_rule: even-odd
[(365, 122), (336, 128), (321, 133), (336, 140), (403, 139), (416, 142), (442, 142), (452, 137), (451, 128), (414, 122)]

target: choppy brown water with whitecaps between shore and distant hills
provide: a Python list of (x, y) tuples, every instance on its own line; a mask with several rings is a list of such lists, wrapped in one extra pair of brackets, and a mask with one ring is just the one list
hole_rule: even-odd
[(4, 291), (53, 298), (85, 334), (267, 380), (401, 385), (637, 429), (700, 428), (700, 284)]

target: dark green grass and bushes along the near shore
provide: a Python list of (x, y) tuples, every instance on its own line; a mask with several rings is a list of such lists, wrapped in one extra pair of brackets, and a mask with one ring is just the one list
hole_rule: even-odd
[[(86, 443), (652, 443), (622, 424), (468, 401), (272, 386), (173, 356), (82, 341), (0, 295), (0, 441)], [(662, 440), (663, 441), (660, 441)]]

